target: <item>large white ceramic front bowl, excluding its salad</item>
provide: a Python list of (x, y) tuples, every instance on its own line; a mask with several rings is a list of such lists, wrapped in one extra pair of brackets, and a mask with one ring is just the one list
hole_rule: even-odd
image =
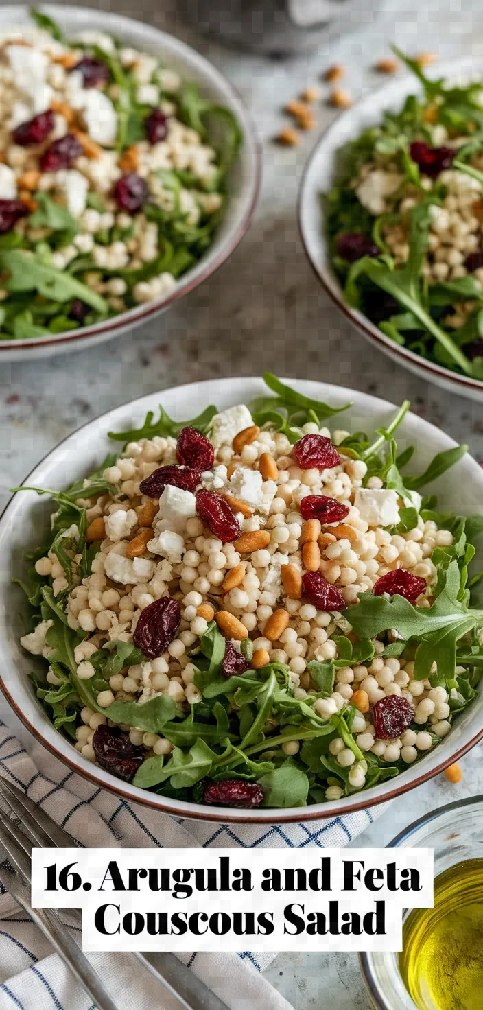
[[(367, 429), (373, 432), (394, 413), (392, 404), (364, 393), (317, 382), (288, 381), (300, 392), (335, 407), (354, 401), (353, 407), (342, 414), (337, 421), (337, 424), (342, 421), (345, 427), (353, 430)], [(143, 396), (103, 414), (69, 435), (35, 467), (24, 483), (62, 489), (72, 481), (92, 473), (106, 453), (112, 451), (113, 445), (119, 445), (118, 442), (109, 441), (107, 432), (135, 427), (143, 420), (148, 410), (158, 412), (160, 402), (171, 416), (181, 420), (195, 416), (209, 403), (225, 409), (235, 403), (250, 403), (255, 396), (264, 392), (266, 387), (261, 379), (216, 379)], [(407, 444), (416, 446), (414, 470), (417, 473), (419, 469), (425, 468), (436, 452), (450, 448), (455, 442), (420, 417), (407, 414), (398, 430), (398, 444), (401, 447)], [(452, 508), (459, 514), (477, 512), (483, 500), (481, 468), (467, 456), (450, 474), (449, 479), (442, 478), (431, 485), (431, 492), (441, 495), (441, 505)], [(126, 799), (183, 817), (265, 823), (313, 820), (382, 803), (413, 789), (458, 761), (483, 736), (482, 682), (480, 694), (472, 707), (456, 721), (452, 731), (433, 751), (411, 765), (397, 779), (335, 802), (284, 810), (203, 807), (158, 796), (121, 782), (101, 768), (91, 765), (54, 728), (28, 681), (28, 674), (35, 661), (23, 651), (18, 641), (19, 635), (23, 633), (21, 615), (24, 612), (25, 597), (18, 586), (12, 586), (12, 577), (25, 569), (24, 551), (42, 542), (51, 512), (52, 502), (49, 499), (25, 491), (15, 495), (0, 519), (0, 688), (19, 719), (34, 736), (62, 762), (96, 785)], [(44, 670), (43, 663), (41, 668)]]

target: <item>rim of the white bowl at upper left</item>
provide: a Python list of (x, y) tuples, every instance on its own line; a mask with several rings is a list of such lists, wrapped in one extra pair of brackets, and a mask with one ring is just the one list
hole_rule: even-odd
[[(12, 17), (21, 17), (22, 15), (25, 15), (25, 13), (28, 13), (28, 10), (29, 8), (24, 4), (12, 4), (0, 8), (0, 29), (3, 22), (10, 15), (10, 12)], [(44, 4), (42, 6), (42, 10), (53, 17), (59, 18), (60, 16), (60, 9), (57, 5)], [(170, 294), (157, 298), (153, 302), (149, 302), (148, 305), (138, 305), (126, 312), (120, 312), (118, 315), (113, 316), (111, 319), (107, 319), (104, 322), (93, 323), (91, 326), (81, 326), (76, 330), (65, 330), (64, 333), (46, 334), (44, 337), (39, 336), (25, 340), (16, 340), (13, 338), (11, 340), (0, 340), (0, 356), (2, 352), (8, 356), (8, 352), (12, 350), (21, 352), (22, 349), (28, 351), (38, 348), (40, 350), (53, 346), (58, 346), (60, 349), (66, 346), (66, 349), (69, 349), (71, 343), (78, 343), (78, 349), (82, 349), (81, 341), (83, 340), (89, 340), (91, 337), (99, 338), (99, 336), (106, 340), (110, 339), (115, 335), (117, 330), (139, 326), (152, 316), (165, 311), (165, 309), (169, 309), (175, 304), (175, 302), (179, 301), (180, 298), (189, 294), (200, 284), (203, 284), (203, 282), (211, 277), (212, 274), (216, 273), (223, 263), (225, 263), (225, 261), (231, 256), (250, 227), (260, 196), (260, 189), (262, 185), (262, 141), (255, 127), (251, 111), (247, 108), (242, 95), (234, 85), (231, 84), (228, 78), (225, 77), (225, 75), (218, 70), (218, 68), (212, 64), (210, 60), (208, 60), (201, 53), (198, 53), (198, 50), (192, 45), (189, 45), (181, 38), (178, 38), (177, 35), (156, 27), (154, 24), (137, 20), (136, 18), (127, 17), (124, 14), (111, 14), (108, 11), (99, 10), (99, 8), (96, 7), (84, 7), (79, 5), (63, 8), (61, 17), (65, 12), (67, 12), (68, 15), (74, 15), (76, 12), (85, 13), (86, 11), (89, 15), (93, 16), (94, 22), (99, 18), (102, 21), (108, 18), (114, 31), (116, 26), (118, 26), (120, 30), (124, 28), (124, 31), (127, 31), (129, 26), (133, 24), (140, 25), (146, 29), (149, 28), (155, 42), (159, 42), (160, 46), (162, 46), (166, 40), (168, 40), (168, 43), (172, 43), (174, 41), (181, 57), (189, 58), (191, 61), (197, 63), (200, 70), (205, 74), (206, 71), (209, 70), (210, 80), (214, 80), (220, 88), (220, 91), (222, 90), (229, 95), (231, 102), (236, 108), (237, 119), (242, 122), (242, 126), (244, 128), (244, 143), (247, 144), (247, 154), (250, 160), (250, 172), (248, 173), (244, 192), (239, 196), (239, 199), (245, 204), (245, 209), (243, 210), (243, 214), (235, 230), (233, 232), (227, 232), (214, 259), (211, 262), (206, 262), (205, 266), (203, 266), (203, 260), (198, 261), (198, 264), (195, 265), (195, 267), (183, 275), (183, 277), (186, 278), (186, 281), (181, 278), (180, 281), (177, 282), (177, 287)], [(14, 27), (14, 24), (12, 27)], [(93, 28), (96, 28), (95, 23)], [(99, 30), (101, 29), (99, 28)], [(104, 30), (107, 31), (107, 27), (104, 28)], [(238, 197), (235, 198), (238, 199)], [(206, 252), (207, 258), (209, 257), (209, 251), (210, 249), (208, 248)], [(199, 271), (198, 273), (197, 270)], [(195, 276), (191, 277), (192, 274)], [(95, 342), (96, 340), (94, 340), (94, 343)]]

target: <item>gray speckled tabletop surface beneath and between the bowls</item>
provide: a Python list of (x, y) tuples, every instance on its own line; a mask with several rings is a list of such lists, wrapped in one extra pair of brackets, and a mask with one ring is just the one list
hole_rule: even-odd
[[(77, 425), (131, 397), (211, 376), (248, 375), (270, 368), (279, 374), (310, 376), (400, 401), (469, 441), (483, 459), (483, 412), (478, 404), (424, 385), (396, 370), (354, 332), (328, 304), (305, 260), (297, 233), (296, 194), (306, 157), (333, 111), (319, 103), (317, 131), (298, 148), (271, 142), (285, 122), (280, 109), (328, 63), (348, 68), (347, 86), (360, 94), (381, 83), (370, 70), (396, 39), (409, 52), (437, 50), (444, 57), (471, 52), (483, 56), (483, 13), (468, 0), (404, 4), (389, 0), (385, 14), (363, 31), (330, 41), (318, 54), (271, 63), (207, 42), (177, 22), (174, 14), (146, 0), (141, 12), (129, 0), (99, 4), (168, 27), (205, 53), (237, 86), (252, 108), (264, 143), (264, 183), (252, 228), (218, 274), (170, 313), (132, 336), (94, 348), (89, 355), (60, 356), (13, 365), (0, 375), (0, 495), (19, 483), (60, 438)], [(444, 11), (444, 17), (442, 13)], [(321, 181), (323, 183), (323, 181)], [(4, 712), (2, 706), (2, 712)], [(5, 714), (5, 713), (4, 713)], [(8, 714), (7, 714), (8, 717)], [(357, 844), (386, 844), (425, 811), (483, 791), (478, 759), (464, 760), (464, 780), (450, 786), (440, 778), (392, 804)], [(283, 954), (267, 973), (296, 1010), (368, 1010), (356, 955)]]

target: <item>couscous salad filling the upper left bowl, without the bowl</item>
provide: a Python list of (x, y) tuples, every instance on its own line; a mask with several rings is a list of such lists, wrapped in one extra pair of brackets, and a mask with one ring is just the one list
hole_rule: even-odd
[[(240, 143), (159, 59), (32, 11), (0, 35), (0, 338), (168, 295), (213, 239)], [(210, 142), (211, 137), (215, 137)]]

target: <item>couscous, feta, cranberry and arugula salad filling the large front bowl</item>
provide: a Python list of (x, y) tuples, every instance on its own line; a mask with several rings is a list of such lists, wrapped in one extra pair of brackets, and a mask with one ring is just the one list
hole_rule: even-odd
[[(191, 421), (160, 409), (52, 495), (26, 585), (54, 724), (168, 797), (291, 807), (383, 783), (475, 698), (483, 519), (421, 497), (467, 446), (410, 471), (394, 432), (265, 376), (275, 397)], [(343, 408), (345, 409), (345, 408)], [(322, 426), (321, 426), (322, 424)]]

